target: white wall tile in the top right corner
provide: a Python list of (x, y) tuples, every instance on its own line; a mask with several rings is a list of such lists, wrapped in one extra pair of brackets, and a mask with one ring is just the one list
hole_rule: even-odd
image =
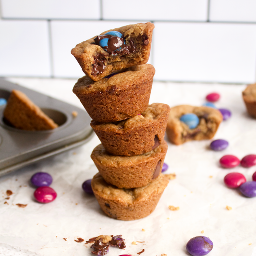
[(256, 22), (256, 0), (211, 0), (210, 21)]

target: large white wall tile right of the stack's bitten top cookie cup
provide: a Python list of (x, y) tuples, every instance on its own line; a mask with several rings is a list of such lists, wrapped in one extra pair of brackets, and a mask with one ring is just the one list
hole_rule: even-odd
[(256, 24), (155, 23), (157, 80), (252, 83)]

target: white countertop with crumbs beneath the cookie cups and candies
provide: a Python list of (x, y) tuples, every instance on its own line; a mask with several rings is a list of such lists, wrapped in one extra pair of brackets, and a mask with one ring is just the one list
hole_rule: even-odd
[[(9, 81), (82, 108), (72, 93), (75, 80), (10, 78)], [(83, 192), (82, 183), (98, 172), (90, 158), (100, 143), (96, 135), (84, 146), (1, 177), (0, 255), (90, 256), (90, 244), (85, 246), (85, 242), (76, 243), (75, 239), (81, 237), (87, 241), (100, 234), (122, 234), (126, 249), (111, 247), (108, 255), (136, 256), (145, 249), (141, 256), (188, 256), (185, 249), (188, 240), (204, 235), (214, 244), (209, 256), (256, 256), (256, 197), (246, 198), (223, 183), (224, 176), (233, 171), (243, 173), (251, 181), (256, 167), (239, 166), (231, 170), (219, 167), (223, 155), (243, 158), (256, 154), (256, 120), (246, 114), (244, 88), (245, 85), (154, 82), (150, 103), (200, 106), (208, 93), (219, 92), (221, 98), (216, 105), (230, 109), (232, 118), (222, 122), (215, 135), (215, 139), (229, 141), (225, 151), (209, 150), (207, 140), (181, 146), (168, 143), (166, 173), (175, 172), (177, 176), (165, 189), (156, 210), (144, 219), (110, 219), (95, 197)], [(35, 188), (29, 180), (38, 171), (49, 172), (53, 177), (51, 187), (58, 196), (49, 204), (37, 203), (33, 198)], [(5, 199), (7, 190), (13, 192), (9, 200)], [(21, 208), (16, 204), (27, 206)], [(170, 205), (180, 210), (171, 211)], [(133, 241), (144, 243), (133, 245)]]

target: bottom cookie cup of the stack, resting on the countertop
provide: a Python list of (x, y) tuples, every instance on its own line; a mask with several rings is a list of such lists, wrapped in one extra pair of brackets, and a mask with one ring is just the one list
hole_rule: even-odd
[(168, 183), (168, 178), (160, 174), (146, 186), (121, 189), (106, 183), (97, 173), (92, 179), (92, 189), (99, 206), (109, 217), (135, 220), (145, 218), (155, 210)]

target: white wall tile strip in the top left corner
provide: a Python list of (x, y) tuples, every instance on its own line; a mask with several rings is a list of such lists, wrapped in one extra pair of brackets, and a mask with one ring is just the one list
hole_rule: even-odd
[(100, 0), (1, 0), (3, 18), (99, 19)]

